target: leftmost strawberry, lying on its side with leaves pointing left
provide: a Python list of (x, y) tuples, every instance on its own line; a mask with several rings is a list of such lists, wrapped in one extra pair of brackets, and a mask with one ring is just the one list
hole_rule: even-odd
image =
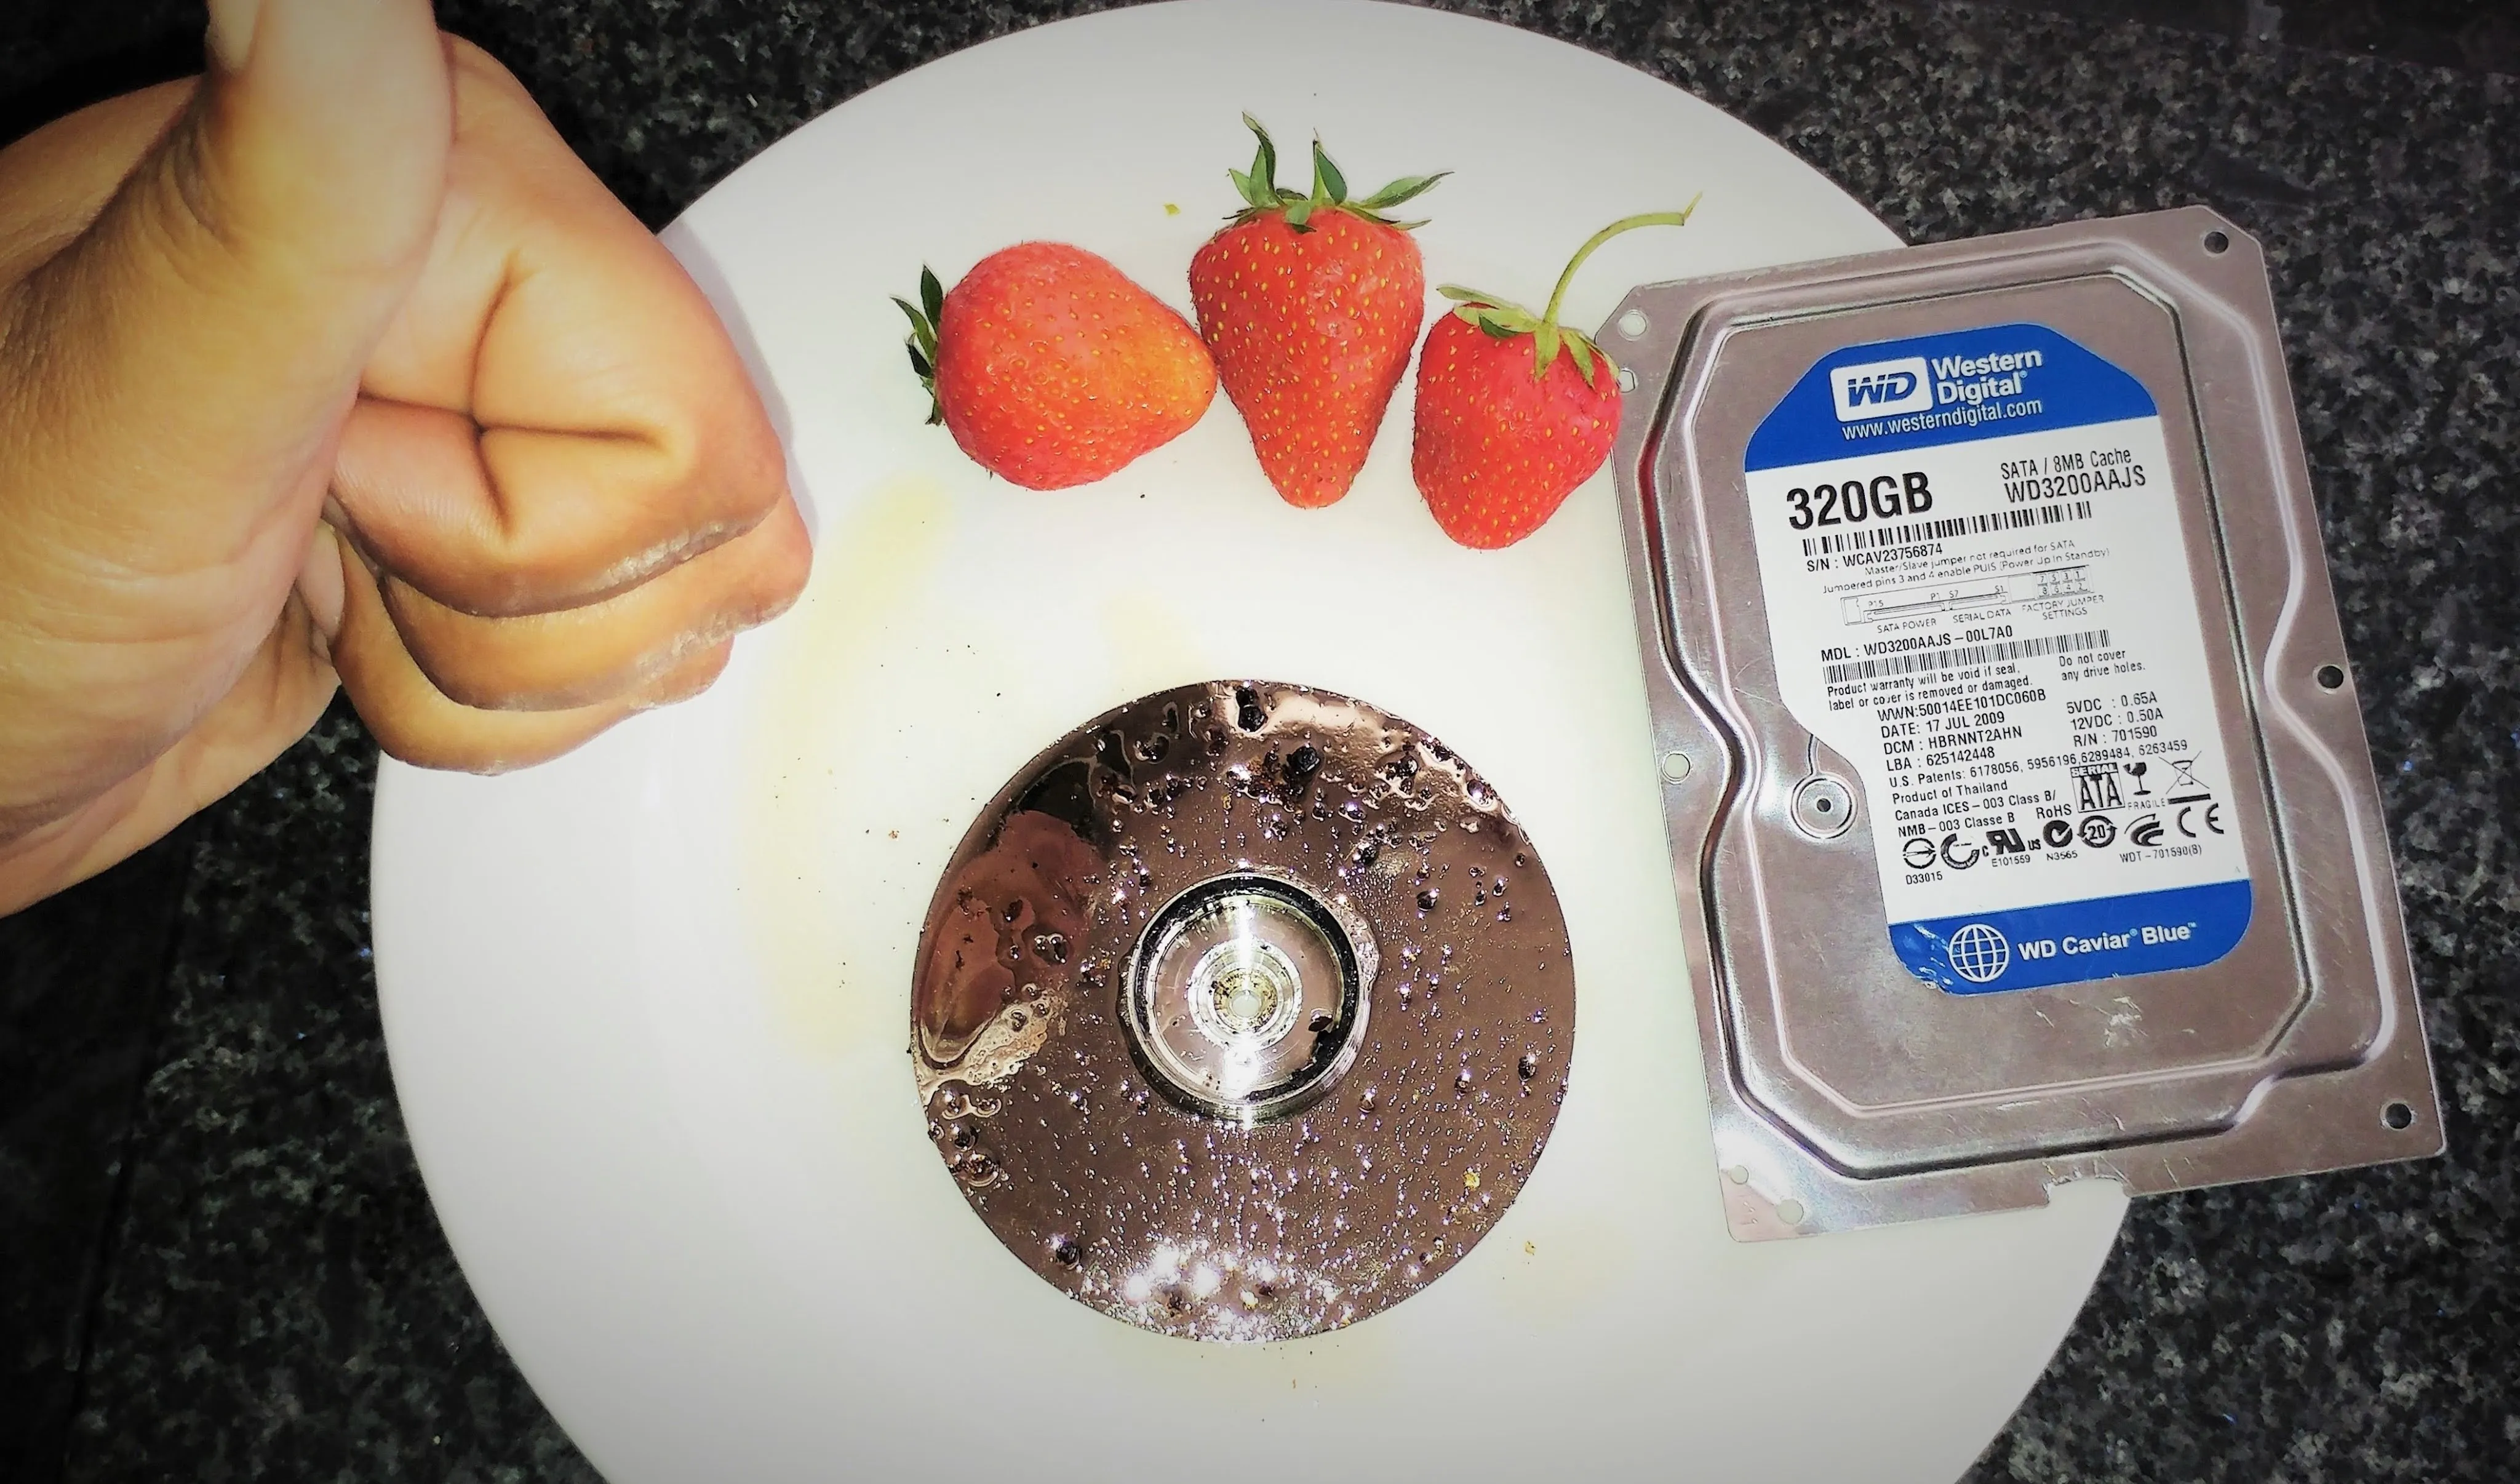
[(1018, 242), (950, 295), (920, 270), (920, 305), (892, 302), (910, 315), (927, 421), (1026, 489), (1114, 474), (1182, 436), (1217, 396), (1189, 320), (1081, 247)]

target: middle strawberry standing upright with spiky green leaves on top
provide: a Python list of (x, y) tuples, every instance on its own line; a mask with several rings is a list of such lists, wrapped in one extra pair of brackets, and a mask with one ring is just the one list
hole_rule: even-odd
[(1411, 227), (1383, 209), (1444, 179), (1404, 176), (1361, 202), (1313, 141), (1313, 194), (1278, 189), (1278, 146), (1260, 136), (1250, 174), (1227, 171), (1250, 202), (1189, 260), (1200, 335), (1225, 396), (1242, 411), (1260, 469), (1288, 504), (1348, 494), (1383, 423), (1426, 315), (1426, 267)]

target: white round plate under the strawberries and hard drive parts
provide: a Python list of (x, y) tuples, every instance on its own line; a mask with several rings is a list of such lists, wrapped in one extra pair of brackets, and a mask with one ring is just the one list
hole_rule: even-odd
[[(1454, 169), (1421, 199), (1429, 285), (1530, 302), (1598, 224), (1704, 191), (1686, 229), (1593, 260), (1578, 325), (1635, 282), (1895, 242), (1643, 73), (1386, 5), (1046, 25), (736, 171), (668, 242), (789, 438), (806, 600), (703, 700), (559, 763), (378, 781), (386, 1036), (464, 1272), (617, 1484), (1948, 1484), (2124, 1202), (1724, 1235), (1608, 476), (1482, 554), (1409, 484), (1406, 385), (1326, 511), (1268, 489), (1222, 396), (1058, 494), (922, 426), (887, 295), (1046, 237), (1187, 305), (1250, 159), (1242, 111), (1288, 176), (1315, 131), (1363, 189)], [(1033, 1277), (935, 1156), (905, 1053), (920, 917), (980, 804), (1079, 721), (1217, 675), (1358, 695), (1457, 746), (1540, 844), (1575, 942), (1572, 1088), (1522, 1199), (1426, 1293), (1285, 1345), (1159, 1338)]]

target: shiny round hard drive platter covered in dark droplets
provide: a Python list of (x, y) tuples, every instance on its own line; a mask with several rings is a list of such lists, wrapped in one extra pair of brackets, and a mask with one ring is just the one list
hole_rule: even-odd
[(1464, 758), (1215, 680), (1079, 726), (980, 814), (910, 1053), (945, 1169), (1033, 1272), (1167, 1335), (1283, 1340), (1487, 1235), (1572, 1036), (1550, 877)]

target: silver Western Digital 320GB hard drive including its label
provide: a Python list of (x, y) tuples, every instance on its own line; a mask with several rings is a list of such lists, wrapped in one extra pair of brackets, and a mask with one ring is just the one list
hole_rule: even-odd
[(1734, 1237), (2439, 1154), (2255, 242), (1648, 285), (1603, 345)]

